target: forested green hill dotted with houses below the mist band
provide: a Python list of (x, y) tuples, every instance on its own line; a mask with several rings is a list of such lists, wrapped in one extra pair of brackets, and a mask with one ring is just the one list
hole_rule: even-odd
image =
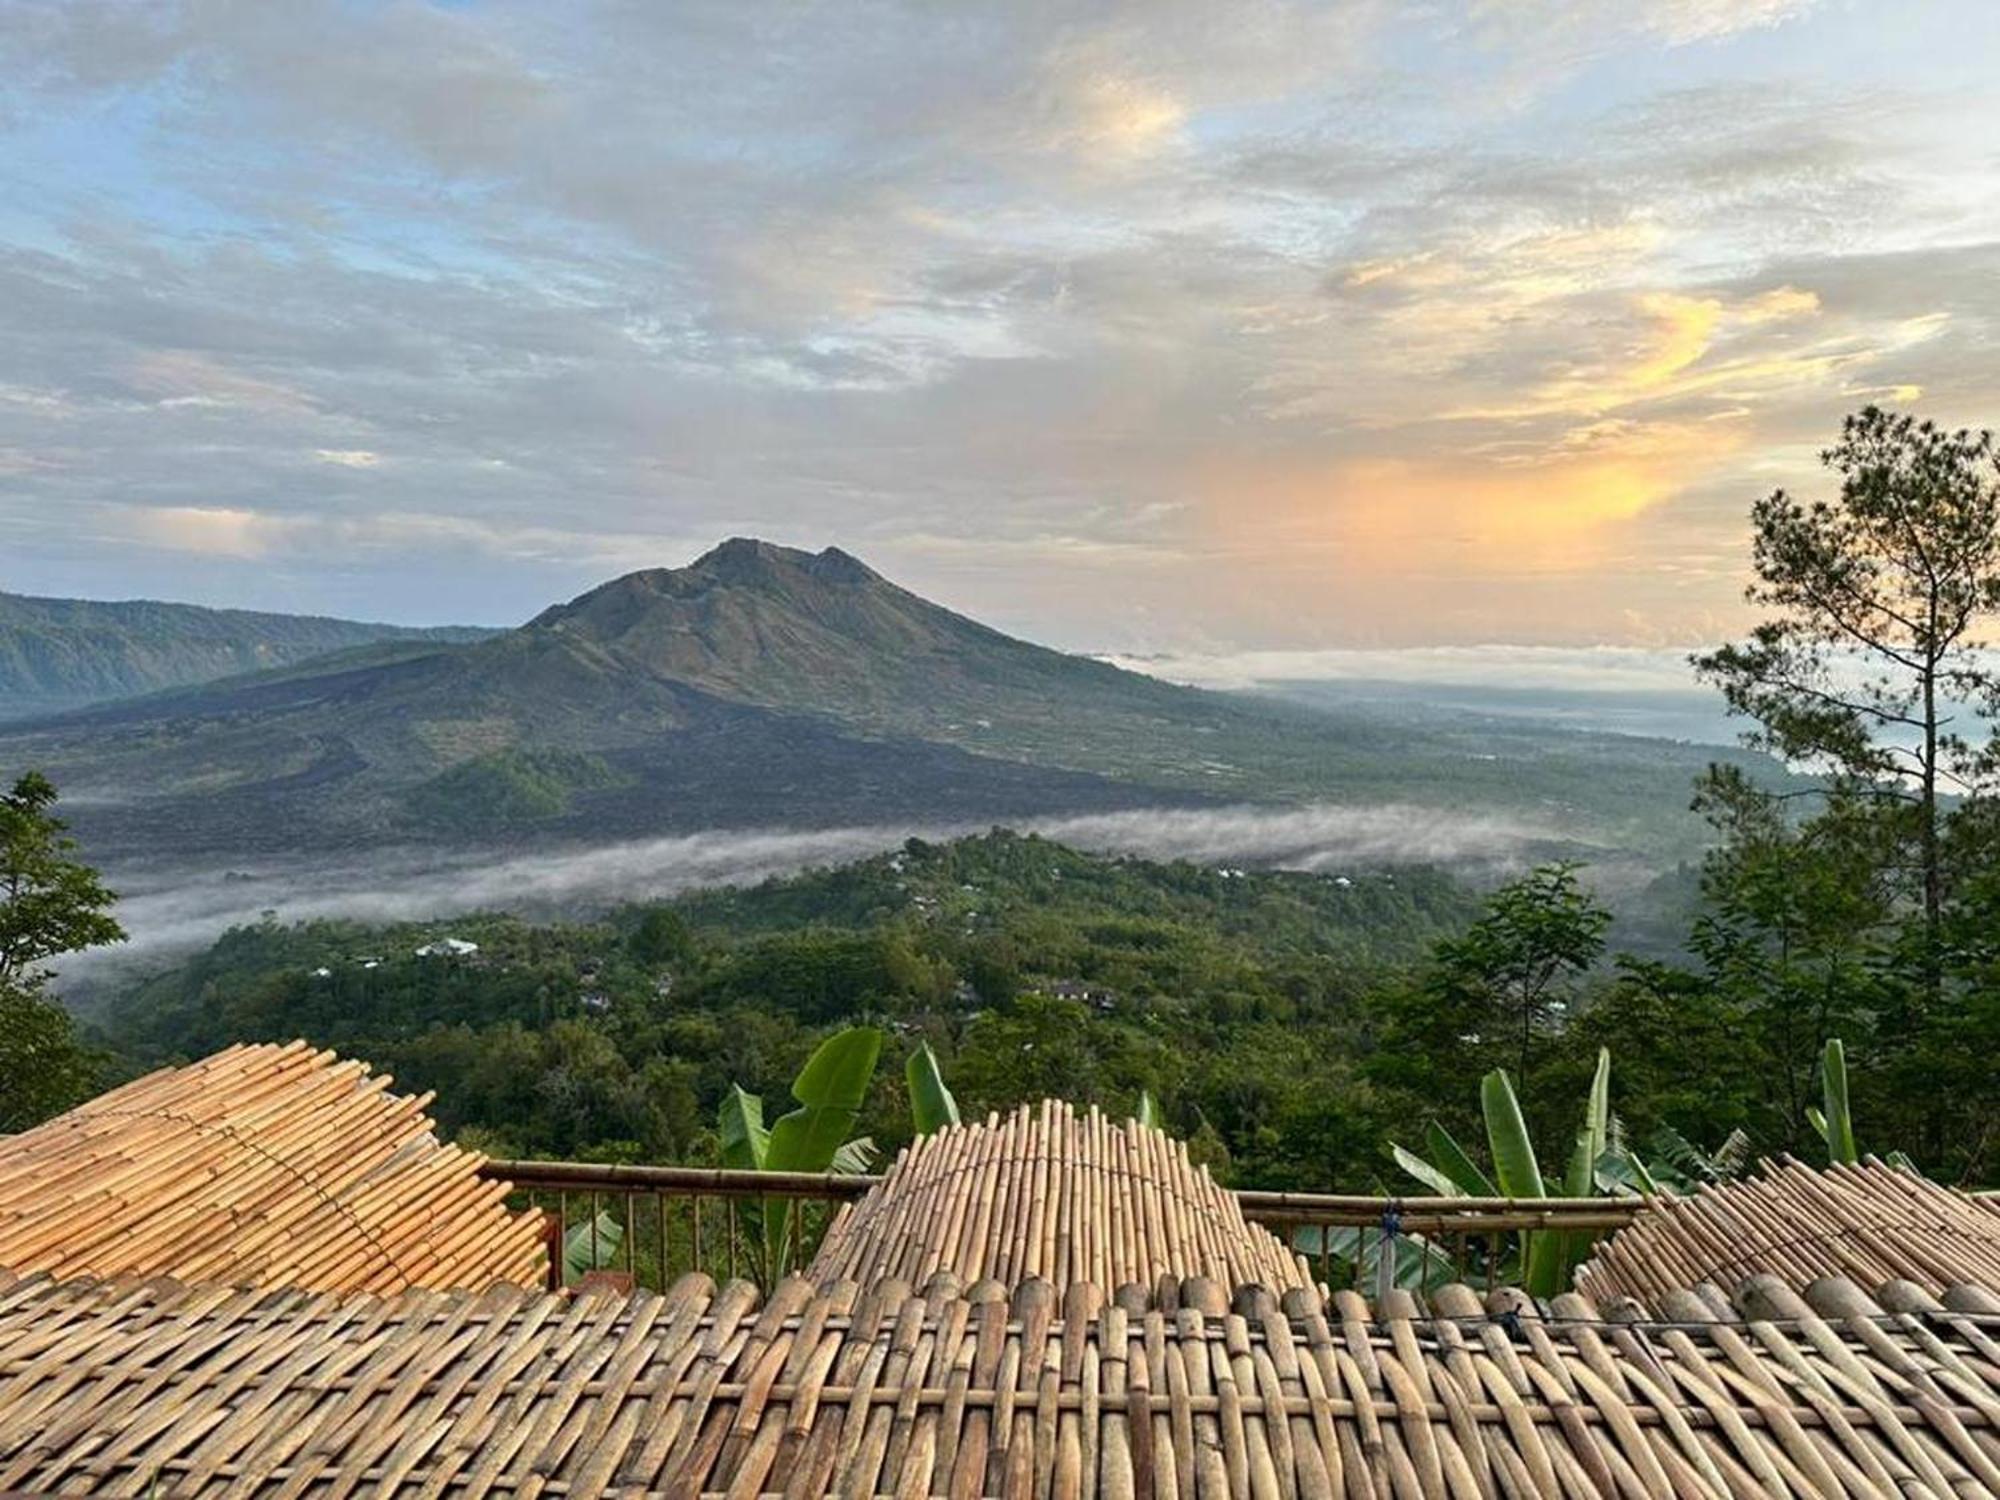
[[(702, 1160), (732, 1082), (782, 1092), (818, 1036), (866, 1018), (898, 1048), (930, 1038), (968, 1108), (1172, 1084), (1246, 1174), (1324, 1184), (1376, 1170), (1366, 1094), (1328, 1088), (1362, 1052), (1366, 992), (1474, 910), (1430, 870), (1236, 874), (994, 832), (598, 922), (264, 922), (102, 1024), (132, 1068), (306, 1036), (438, 1088), (446, 1130), (488, 1148)], [(446, 936), (478, 948), (420, 952)], [(884, 1070), (884, 1144), (908, 1130), (898, 1088)]]

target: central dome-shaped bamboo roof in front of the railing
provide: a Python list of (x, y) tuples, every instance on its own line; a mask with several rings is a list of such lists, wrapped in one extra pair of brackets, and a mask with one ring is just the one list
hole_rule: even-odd
[(1060, 1100), (908, 1146), (866, 1198), (840, 1210), (808, 1276), (922, 1282), (940, 1270), (966, 1286), (1150, 1286), (1162, 1276), (1310, 1284), (1306, 1264), (1246, 1224), (1236, 1196), (1182, 1142)]

